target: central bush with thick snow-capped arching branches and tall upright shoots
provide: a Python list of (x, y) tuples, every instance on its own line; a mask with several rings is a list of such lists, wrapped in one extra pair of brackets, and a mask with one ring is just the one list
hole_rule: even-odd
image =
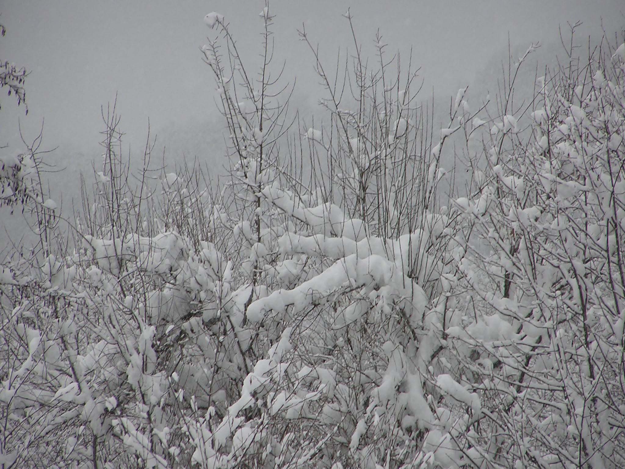
[[(268, 8), (260, 16), (259, 75), (269, 77), (272, 16)], [(419, 344), (446, 269), (451, 222), (437, 209), (445, 136), (432, 152), (431, 123), (411, 92), (416, 75), (398, 78), (399, 60), (389, 63), (378, 36), (377, 71), (360, 57), (354, 71), (336, 71), (349, 77), (350, 99), (311, 46), (327, 125), (302, 123), (299, 144), (279, 153), (287, 101), (247, 78), (224, 21), (206, 17), (221, 41), (202, 51), (236, 162), (220, 205), (242, 209), (217, 218), (241, 240), (242, 301), (229, 315), (251, 353), (239, 398), (202, 422), (211, 439), (196, 442), (194, 458), (209, 467), (407, 462), (431, 420), (420, 373), (432, 350)]]

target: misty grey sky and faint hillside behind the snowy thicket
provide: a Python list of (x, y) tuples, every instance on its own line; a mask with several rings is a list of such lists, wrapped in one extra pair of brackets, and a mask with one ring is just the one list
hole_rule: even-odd
[[(93, 165), (101, 164), (101, 108), (106, 113), (117, 97), (125, 155), (139, 161), (149, 123), (157, 163), (163, 156), (173, 168), (197, 158), (215, 174), (222, 173), (227, 165), (224, 123), (214, 79), (200, 52), (215, 32), (203, 19), (211, 11), (223, 14), (243, 63), (254, 69), (261, 60), (263, 6), (263, 1), (248, 0), (0, 2), (0, 23), (7, 29), (0, 38), (0, 59), (29, 71), (27, 116), (14, 96), (0, 95), (0, 144), (8, 145), (0, 154), (21, 153), (22, 137), (32, 143), (43, 129), (41, 149), (54, 149), (44, 161), (60, 170), (49, 174), (51, 196), (59, 205), (63, 201), (63, 214), (71, 213), (71, 200), (79, 199), (79, 174), (85, 173), (90, 183)], [(531, 43), (541, 44), (517, 81), (519, 89), (531, 91), (536, 71), (564, 56), (559, 28), (567, 40), (568, 24), (582, 21), (576, 38), (587, 46), (604, 33), (614, 43), (625, 27), (622, 0), (274, 0), (274, 61), (286, 63), (284, 84), (296, 79), (291, 108), (301, 116), (321, 116), (317, 101), (324, 90), (297, 29), (306, 28), (309, 40), (319, 44), (326, 68), (334, 72), (339, 48), (341, 53), (354, 51), (342, 16), (347, 8), (365, 57), (375, 59), (378, 29), (388, 54), (399, 51), (407, 61), (412, 53), (412, 68), (421, 68), (421, 99), (434, 98), (435, 116), (441, 120), (460, 87), (469, 86), (469, 104), (481, 102), (489, 91), (496, 93), (508, 42), (512, 57)], [(21, 217), (17, 209), (11, 215), (0, 208), (0, 253), (8, 235), (16, 239), (24, 234)]]

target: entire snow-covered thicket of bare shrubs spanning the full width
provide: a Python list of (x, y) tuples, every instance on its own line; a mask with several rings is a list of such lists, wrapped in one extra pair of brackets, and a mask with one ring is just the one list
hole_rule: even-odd
[[(381, 36), (379, 68), (354, 38), (336, 79), (301, 31), (324, 124), (292, 118), (259, 16), (259, 71), (204, 19), (216, 191), (197, 166), (152, 169), (149, 138), (131, 173), (114, 106), (69, 236), (38, 147), (6, 160), (40, 240), (0, 270), (0, 464), (621, 467), (621, 49), (569, 50), (520, 107), (514, 79), (496, 111), (463, 88), (434, 139)], [(459, 135), (462, 197), (441, 164)]]

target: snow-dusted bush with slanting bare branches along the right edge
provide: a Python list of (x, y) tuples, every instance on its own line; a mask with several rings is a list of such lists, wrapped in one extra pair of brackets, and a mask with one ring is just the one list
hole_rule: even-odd
[(461, 392), (449, 442), (471, 467), (625, 465), (625, 61), (606, 41), (566, 53), (529, 103), (512, 70), (482, 151), (467, 139), (460, 323), (441, 356)]

